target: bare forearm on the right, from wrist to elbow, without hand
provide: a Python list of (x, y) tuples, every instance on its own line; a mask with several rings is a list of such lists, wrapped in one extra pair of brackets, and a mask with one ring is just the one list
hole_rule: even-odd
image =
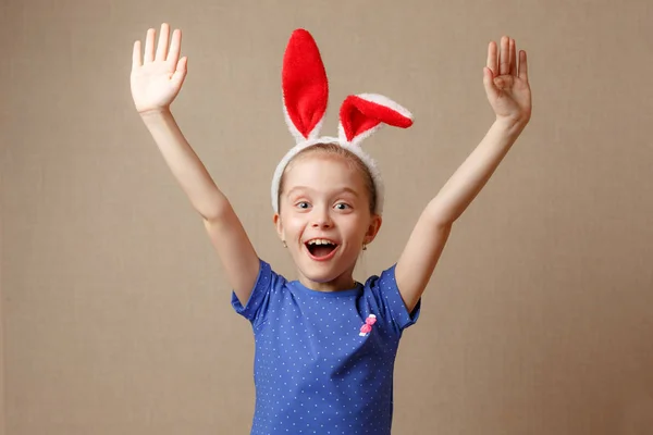
[(488, 183), (525, 123), (495, 121), (485, 137), (428, 206), (440, 225), (453, 224)]

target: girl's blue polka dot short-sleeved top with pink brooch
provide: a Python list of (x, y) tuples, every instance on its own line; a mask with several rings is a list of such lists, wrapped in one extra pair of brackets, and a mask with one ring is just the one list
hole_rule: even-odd
[(395, 356), (420, 310), (406, 310), (394, 265), (324, 293), (260, 261), (249, 300), (232, 304), (255, 334), (251, 435), (390, 434)]

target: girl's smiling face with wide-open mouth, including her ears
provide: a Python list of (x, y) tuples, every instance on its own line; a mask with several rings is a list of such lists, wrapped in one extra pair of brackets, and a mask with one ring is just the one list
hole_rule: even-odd
[(299, 282), (323, 291), (354, 287), (354, 266), (381, 217), (370, 213), (362, 174), (342, 157), (307, 154), (284, 175), (274, 224), (297, 266)]

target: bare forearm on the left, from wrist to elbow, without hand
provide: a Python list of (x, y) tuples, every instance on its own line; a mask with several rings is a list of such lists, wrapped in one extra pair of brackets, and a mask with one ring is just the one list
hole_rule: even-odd
[(207, 220), (219, 216), (226, 209), (227, 200), (182, 134), (172, 113), (161, 110), (141, 114), (141, 119), (195, 210)]

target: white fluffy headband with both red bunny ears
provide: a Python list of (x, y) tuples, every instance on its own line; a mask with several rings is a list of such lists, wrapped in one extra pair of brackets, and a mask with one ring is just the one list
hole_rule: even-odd
[(296, 145), (276, 166), (272, 178), (272, 207), (279, 212), (279, 185), (288, 162), (303, 149), (317, 144), (336, 144), (356, 154), (368, 167), (377, 188), (377, 210), (383, 211), (383, 181), (374, 161), (360, 142), (383, 124), (407, 128), (412, 115), (391, 99), (377, 94), (348, 96), (340, 110), (338, 137), (320, 137), (326, 112), (329, 83), (318, 46), (304, 29), (293, 32), (283, 59), (285, 120)]

